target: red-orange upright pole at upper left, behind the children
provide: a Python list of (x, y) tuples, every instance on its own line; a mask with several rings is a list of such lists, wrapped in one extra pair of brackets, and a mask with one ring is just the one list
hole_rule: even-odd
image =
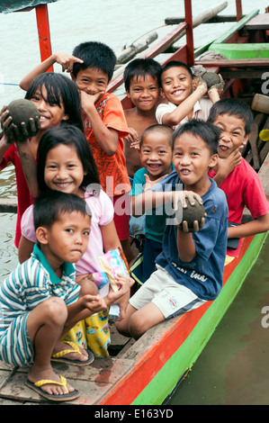
[[(48, 5), (40, 4), (36, 6), (35, 13), (40, 40), (40, 58), (42, 62), (51, 56)], [(48, 72), (53, 72), (53, 67), (49, 67)]]

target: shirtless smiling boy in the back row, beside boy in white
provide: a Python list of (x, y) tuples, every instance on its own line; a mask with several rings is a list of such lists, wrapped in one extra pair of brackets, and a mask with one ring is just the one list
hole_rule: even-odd
[(139, 156), (141, 134), (157, 123), (155, 113), (161, 73), (161, 65), (153, 58), (135, 58), (124, 69), (126, 94), (134, 106), (124, 111), (130, 130), (124, 138), (124, 155), (130, 178), (142, 167)]

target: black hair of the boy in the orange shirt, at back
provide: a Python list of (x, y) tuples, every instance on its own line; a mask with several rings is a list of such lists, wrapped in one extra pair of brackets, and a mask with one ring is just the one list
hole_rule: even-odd
[(103, 42), (82, 42), (75, 47), (73, 56), (83, 60), (83, 63), (74, 63), (72, 72), (75, 78), (81, 69), (92, 67), (102, 70), (108, 76), (108, 82), (112, 79), (117, 58), (113, 50)]

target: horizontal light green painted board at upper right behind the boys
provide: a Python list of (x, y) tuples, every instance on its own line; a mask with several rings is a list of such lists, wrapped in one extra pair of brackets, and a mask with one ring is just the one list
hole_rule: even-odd
[(212, 43), (209, 50), (221, 53), (225, 58), (269, 58), (268, 43), (219, 44)]

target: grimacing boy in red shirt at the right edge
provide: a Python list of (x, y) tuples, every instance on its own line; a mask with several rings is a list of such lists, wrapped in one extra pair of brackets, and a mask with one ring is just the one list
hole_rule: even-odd
[[(223, 98), (212, 106), (209, 121), (222, 130), (218, 147), (220, 160), (210, 175), (227, 198), (231, 225), (228, 238), (244, 238), (267, 231), (269, 206), (259, 175), (244, 157), (240, 157), (239, 164), (235, 161), (251, 133), (253, 115), (250, 107), (238, 99)], [(251, 212), (253, 220), (241, 224), (245, 207)], [(233, 249), (228, 244), (227, 264), (238, 257), (240, 246), (241, 239), (238, 247)]]

